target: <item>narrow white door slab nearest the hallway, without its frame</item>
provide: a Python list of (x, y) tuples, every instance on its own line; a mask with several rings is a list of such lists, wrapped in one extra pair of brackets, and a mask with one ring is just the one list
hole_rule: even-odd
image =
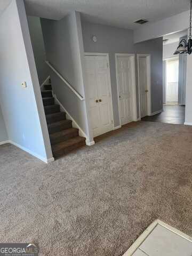
[(139, 57), (139, 97), (141, 118), (148, 115), (147, 111), (147, 57)]

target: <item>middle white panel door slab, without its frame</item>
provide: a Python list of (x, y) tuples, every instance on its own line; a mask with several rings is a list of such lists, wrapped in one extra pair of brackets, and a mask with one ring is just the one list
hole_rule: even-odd
[(119, 95), (119, 115), (121, 125), (133, 121), (133, 81), (131, 57), (117, 56), (117, 84)]

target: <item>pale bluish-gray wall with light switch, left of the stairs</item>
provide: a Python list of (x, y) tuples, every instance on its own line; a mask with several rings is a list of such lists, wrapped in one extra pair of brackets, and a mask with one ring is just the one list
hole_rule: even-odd
[(23, 0), (12, 0), (2, 13), (0, 35), (0, 102), (9, 140), (46, 161), (52, 151)]

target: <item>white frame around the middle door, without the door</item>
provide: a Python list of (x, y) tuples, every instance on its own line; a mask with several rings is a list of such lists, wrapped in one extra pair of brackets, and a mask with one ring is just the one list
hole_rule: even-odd
[(117, 98), (118, 98), (118, 113), (119, 113), (119, 124), (121, 126), (120, 107), (119, 107), (119, 84), (117, 79), (117, 57), (126, 56), (131, 57), (131, 76), (132, 76), (132, 99), (133, 99), (133, 121), (138, 121), (137, 117), (137, 98), (136, 98), (136, 83), (135, 83), (135, 54), (134, 53), (115, 53), (115, 69), (116, 69), (116, 82), (117, 82)]

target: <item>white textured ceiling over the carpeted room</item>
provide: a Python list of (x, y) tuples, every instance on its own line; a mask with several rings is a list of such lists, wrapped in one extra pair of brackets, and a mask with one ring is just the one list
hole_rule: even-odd
[[(11, 0), (0, 0), (0, 13)], [(59, 20), (72, 10), (84, 20), (134, 29), (144, 18), (158, 21), (189, 9), (189, 0), (25, 0), (29, 15)]]

